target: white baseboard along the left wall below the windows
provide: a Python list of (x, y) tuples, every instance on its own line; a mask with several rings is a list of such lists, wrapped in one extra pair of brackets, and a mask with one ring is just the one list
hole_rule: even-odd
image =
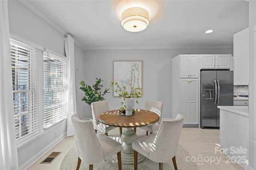
[(38, 159), (40, 159), (44, 154), (46, 154), (49, 150), (51, 150), (53, 147), (55, 147), (62, 139), (66, 137), (67, 133), (63, 133), (58, 138), (56, 138), (54, 141), (52, 141), (49, 145), (47, 145), (44, 149), (42, 149), (40, 152), (35, 154), (32, 158), (30, 158), (27, 162), (22, 164), (19, 167), (19, 170), (26, 170), (30, 166), (32, 166)]

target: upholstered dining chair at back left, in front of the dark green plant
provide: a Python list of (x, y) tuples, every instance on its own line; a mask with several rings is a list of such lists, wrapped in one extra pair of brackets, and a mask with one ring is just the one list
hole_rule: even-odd
[[(101, 123), (99, 121), (100, 115), (106, 111), (110, 111), (109, 106), (108, 106), (108, 101), (104, 100), (104, 101), (92, 103), (92, 119), (93, 119), (93, 126), (94, 126), (96, 133), (97, 133), (97, 131), (101, 131), (101, 132), (105, 133), (106, 135), (108, 135), (109, 131), (117, 128), (117, 127), (105, 125), (104, 123)], [(120, 137), (121, 137), (122, 127), (120, 127), (119, 131), (120, 131)]]

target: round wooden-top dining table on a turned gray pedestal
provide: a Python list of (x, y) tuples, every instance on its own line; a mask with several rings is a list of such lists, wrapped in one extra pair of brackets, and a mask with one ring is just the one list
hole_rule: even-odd
[[(121, 151), (123, 164), (134, 163), (132, 142), (137, 140), (137, 135), (133, 128), (147, 126), (156, 123), (158, 120), (158, 114), (144, 109), (136, 109), (135, 113), (132, 113), (131, 116), (119, 113), (119, 109), (111, 110), (102, 113), (99, 117), (99, 121), (106, 125), (126, 128), (121, 136), (121, 139), (124, 142)], [(144, 156), (138, 153), (138, 162), (141, 162), (143, 159)]]

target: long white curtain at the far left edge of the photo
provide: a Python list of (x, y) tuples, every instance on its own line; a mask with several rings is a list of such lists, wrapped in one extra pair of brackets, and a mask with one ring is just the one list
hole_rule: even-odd
[(0, 170), (16, 170), (12, 68), (7, 0), (0, 0)]

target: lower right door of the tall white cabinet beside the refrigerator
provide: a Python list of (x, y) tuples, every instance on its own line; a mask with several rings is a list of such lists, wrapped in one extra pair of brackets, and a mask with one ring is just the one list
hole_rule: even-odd
[(190, 106), (190, 113), (189, 113), (189, 123), (191, 124), (198, 124), (198, 80), (189, 81), (189, 106)]

